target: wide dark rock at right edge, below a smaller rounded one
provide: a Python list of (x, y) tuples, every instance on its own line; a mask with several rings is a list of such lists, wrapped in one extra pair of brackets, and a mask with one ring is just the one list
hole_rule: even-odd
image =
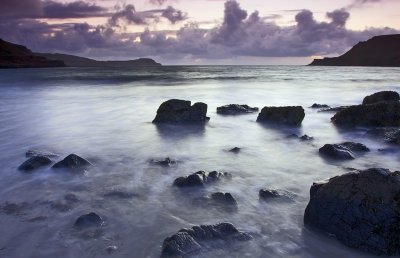
[(337, 126), (400, 126), (400, 103), (350, 106), (337, 112), (331, 120)]

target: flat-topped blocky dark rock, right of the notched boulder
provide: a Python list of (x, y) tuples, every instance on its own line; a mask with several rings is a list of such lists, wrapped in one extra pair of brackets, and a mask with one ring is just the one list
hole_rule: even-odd
[(258, 114), (257, 122), (299, 126), (305, 116), (301, 106), (293, 107), (264, 107)]

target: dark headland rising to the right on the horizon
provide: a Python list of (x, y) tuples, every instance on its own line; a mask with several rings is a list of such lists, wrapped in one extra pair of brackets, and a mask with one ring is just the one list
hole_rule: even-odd
[(314, 59), (310, 65), (400, 67), (400, 34), (373, 37), (339, 57)]

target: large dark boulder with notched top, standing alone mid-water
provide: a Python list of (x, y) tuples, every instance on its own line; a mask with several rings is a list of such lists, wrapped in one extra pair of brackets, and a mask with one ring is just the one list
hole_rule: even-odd
[(209, 120), (207, 104), (197, 102), (190, 106), (187, 100), (170, 99), (160, 105), (153, 123), (204, 124)]

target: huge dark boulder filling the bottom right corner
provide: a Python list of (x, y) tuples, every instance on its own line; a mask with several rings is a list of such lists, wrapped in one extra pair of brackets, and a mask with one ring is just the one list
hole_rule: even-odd
[(399, 172), (372, 168), (336, 176), (312, 185), (304, 224), (350, 247), (398, 254), (399, 198)]

